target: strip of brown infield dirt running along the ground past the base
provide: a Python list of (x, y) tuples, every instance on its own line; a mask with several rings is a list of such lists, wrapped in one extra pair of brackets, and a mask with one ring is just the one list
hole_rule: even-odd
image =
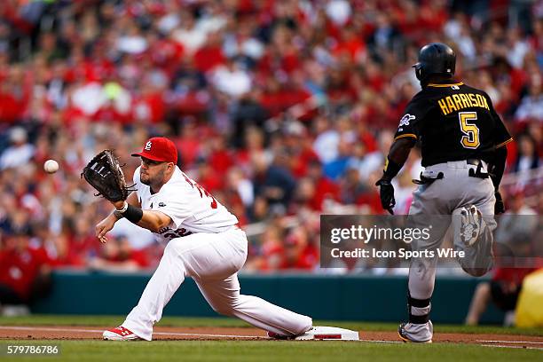
[[(0, 326), (0, 340), (100, 340), (105, 327)], [(397, 333), (358, 332), (363, 342), (399, 342)], [(270, 340), (263, 330), (248, 327), (155, 327), (154, 340)], [(273, 341), (273, 340), (270, 340)], [(543, 349), (543, 337), (515, 334), (435, 334), (434, 342), (475, 343), (497, 347)]]

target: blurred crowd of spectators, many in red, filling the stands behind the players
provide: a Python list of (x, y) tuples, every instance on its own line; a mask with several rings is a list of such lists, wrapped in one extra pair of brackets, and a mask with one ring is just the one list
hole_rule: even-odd
[[(80, 178), (114, 148), (130, 179), (130, 153), (155, 135), (247, 226), (246, 270), (315, 270), (320, 214), (383, 212), (374, 182), (430, 41), (453, 46), (458, 79), (487, 91), (515, 135), (503, 193), (543, 211), (541, 0), (2, 3), (0, 284), (20, 278), (7, 260), (34, 273), (156, 265), (161, 246), (130, 225), (98, 243), (111, 207)], [(420, 171), (412, 153), (398, 214)]]

